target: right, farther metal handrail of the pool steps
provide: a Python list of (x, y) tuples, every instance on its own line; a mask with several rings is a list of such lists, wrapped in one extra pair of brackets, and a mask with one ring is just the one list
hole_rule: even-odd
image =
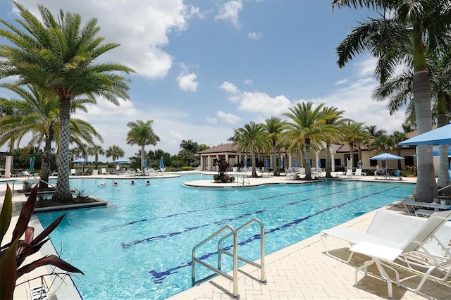
[[(263, 223), (261, 222), (261, 220), (255, 218), (255, 219), (249, 220), (247, 223), (241, 225), (240, 227), (237, 227), (237, 229), (235, 229), (235, 232), (239, 232), (243, 228), (245, 228), (245, 227), (247, 227), (249, 225), (252, 225), (253, 223), (259, 223), (259, 225), (260, 225), (260, 264), (255, 263), (254, 261), (249, 261), (249, 259), (241, 257), (241, 256), (237, 256), (237, 258), (240, 261), (245, 261), (246, 263), (254, 265), (254, 267), (260, 268), (260, 282), (266, 283), (266, 276), (265, 276), (265, 231), (264, 231)], [(228, 256), (233, 256), (233, 255), (235, 255), (235, 253), (237, 253), (237, 251), (235, 250), (235, 246), (234, 246), (233, 254), (231, 254), (229, 251), (226, 251), (226, 250), (222, 249), (222, 246), (221, 246), (222, 242), (224, 242), (226, 239), (228, 239), (230, 237), (230, 235), (232, 235), (232, 234), (229, 233), (225, 237), (222, 237), (219, 240), (219, 242), (218, 242), (218, 269), (219, 270), (221, 270), (221, 253), (227, 254)]]

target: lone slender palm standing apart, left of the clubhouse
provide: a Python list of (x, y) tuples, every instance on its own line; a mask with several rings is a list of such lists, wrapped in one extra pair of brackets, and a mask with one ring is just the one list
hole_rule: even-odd
[(130, 130), (127, 133), (127, 144), (141, 146), (141, 171), (144, 172), (144, 146), (156, 145), (160, 142), (160, 137), (155, 134), (152, 129), (153, 120), (148, 120), (146, 123), (142, 120), (136, 122), (129, 122), (127, 126)]

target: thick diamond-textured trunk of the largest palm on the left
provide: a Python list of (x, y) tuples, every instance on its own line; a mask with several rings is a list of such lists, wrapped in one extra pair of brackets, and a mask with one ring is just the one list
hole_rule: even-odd
[(56, 163), (58, 165), (58, 181), (56, 184), (56, 191), (53, 199), (57, 201), (67, 201), (72, 198), (70, 194), (69, 182), (69, 120), (70, 120), (70, 100), (60, 99), (59, 101), (59, 122), (60, 122), (60, 137), (58, 142), (58, 154), (56, 156)]

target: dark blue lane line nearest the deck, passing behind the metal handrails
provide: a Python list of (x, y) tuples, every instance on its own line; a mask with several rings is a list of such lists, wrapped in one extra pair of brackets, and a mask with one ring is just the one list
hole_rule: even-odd
[[(397, 188), (398, 188), (398, 187), (391, 187), (390, 189), (397, 189)], [(381, 193), (383, 193), (383, 192), (389, 191), (390, 189), (385, 189), (385, 190), (383, 190), (383, 191), (381, 191), (381, 192), (372, 193), (371, 195), (373, 195), (373, 194), (381, 194)], [(335, 209), (335, 208), (340, 208), (340, 207), (345, 206), (345, 205), (348, 205), (348, 204), (352, 204), (352, 203), (355, 202), (355, 201), (358, 201), (358, 200), (360, 200), (360, 199), (368, 198), (368, 197), (371, 196), (371, 195), (362, 196), (362, 197), (359, 197), (359, 198), (357, 198), (357, 199), (353, 199), (353, 200), (350, 200), (350, 201), (347, 201), (347, 202), (343, 202), (343, 203), (341, 203), (341, 204), (337, 204), (337, 205), (334, 205), (334, 206), (330, 206), (330, 207), (325, 208), (325, 209), (323, 209), (323, 210), (321, 210), (321, 211), (318, 211), (318, 212), (316, 212), (316, 213), (314, 213), (314, 214), (307, 215), (307, 216), (305, 216), (305, 217), (303, 217), (303, 218), (299, 218), (299, 219), (292, 220), (290, 223), (286, 223), (286, 224), (284, 224), (284, 225), (282, 225), (282, 226), (280, 226), (280, 227), (276, 227), (276, 228), (273, 228), (273, 229), (271, 229), (271, 230), (265, 231), (265, 235), (268, 235), (268, 234), (273, 233), (273, 232), (277, 232), (278, 230), (281, 230), (281, 229), (286, 228), (286, 227), (291, 227), (292, 225), (297, 225), (297, 224), (303, 222), (304, 220), (308, 220), (309, 218), (312, 218), (312, 217), (314, 217), (314, 216), (316, 216), (316, 215), (319, 215), (319, 214), (321, 214), (321, 213), (325, 213), (326, 211), (330, 211), (330, 210)], [(238, 245), (239, 245), (239, 246), (242, 246), (242, 245), (245, 245), (245, 244), (249, 244), (250, 242), (253, 242), (254, 240), (257, 240), (257, 239), (260, 239), (260, 235), (253, 235), (252, 237), (249, 237), (249, 238), (246, 239), (245, 241), (239, 242)], [(226, 246), (226, 247), (223, 247), (223, 249), (226, 249), (226, 250), (230, 250), (230, 249), (232, 249), (232, 248), (233, 248), (233, 246)], [(210, 252), (210, 253), (208, 253), (208, 254), (204, 254), (204, 255), (201, 256), (199, 259), (205, 260), (206, 258), (209, 258), (210, 256), (217, 255), (217, 254), (218, 254), (217, 251), (215, 251), (215, 252)], [(179, 270), (180, 268), (185, 268), (185, 267), (190, 267), (190, 266), (191, 266), (191, 261), (187, 261), (187, 262), (185, 262), (185, 263), (182, 263), (181, 265), (175, 266), (175, 267), (170, 268), (170, 269), (168, 269), (168, 270), (163, 270), (163, 271), (161, 271), (161, 272), (156, 272), (156, 270), (149, 270), (149, 273), (150, 273), (150, 274), (152, 275), (152, 277), (154, 278), (152, 281), (153, 281), (154, 283), (156, 283), (156, 284), (160, 284), (160, 283), (163, 283), (163, 280), (164, 280), (164, 278), (165, 278), (166, 276), (172, 275), (172, 274), (175, 274), (175, 273), (178, 273), (177, 270)]]

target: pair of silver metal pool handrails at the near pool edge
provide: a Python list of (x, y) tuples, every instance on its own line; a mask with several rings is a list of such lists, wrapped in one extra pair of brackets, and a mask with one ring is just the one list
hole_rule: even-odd
[[(238, 246), (238, 239), (237, 239), (237, 232), (242, 230), (243, 228), (252, 225), (252, 223), (258, 223), (260, 225), (260, 263), (255, 263), (254, 261), (250, 261), (247, 258), (243, 258), (241, 256), (238, 256), (237, 254), (237, 246)], [(200, 258), (196, 257), (196, 250), (200, 247), (206, 244), (207, 242), (211, 241), (211, 239), (214, 239), (215, 237), (218, 237), (223, 232), (230, 231), (227, 235), (219, 239), (218, 242), (218, 268), (215, 268), (213, 265), (210, 265), (209, 263), (206, 263), (204, 261), (201, 261)], [(222, 248), (221, 244), (224, 240), (228, 239), (228, 237), (233, 236), (233, 252), (230, 253), (229, 251), (226, 251)], [(228, 275), (227, 273), (224, 273), (221, 271), (221, 254), (226, 254), (228, 256), (233, 257), (233, 276)], [(221, 275), (223, 277), (226, 277), (228, 280), (233, 282), (233, 297), (235, 299), (239, 299), (240, 295), (238, 294), (238, 260), (244, 261), (245, 263), (249, 263), (250, 265), (254, 265), (257, 268), (260, 268), (260, 282), (266, 283), (266, 276), (265, 276), (265, 233), (264, 233), (264, 225), (261, 223), (261, 220), (259, 219), (252, 219), (249, 220), (249, 222), (241, 225), (240, 227), (233, 227), (232, 225), (226, 225), (222, 227), (220, 230), (216, 231), (213, 235), (210, 235), (206, 239), (204, 239), (202, 242), (197, 244), (192, 248), (192, 256), (191, 256), (191, 284), (192, 286), (196, 285), (199, 282), (204, 282), (206, 280), (211, 279), (212, 277), (216, 276), (216, 274)], [(214, 271), (216, 274), (211, 274), (207, 277), (204, 277), (199, 280), (195, 280), (196, 277), (196, 263), (200, 263), (206, 268), (209, 268), (210, 270)]]

